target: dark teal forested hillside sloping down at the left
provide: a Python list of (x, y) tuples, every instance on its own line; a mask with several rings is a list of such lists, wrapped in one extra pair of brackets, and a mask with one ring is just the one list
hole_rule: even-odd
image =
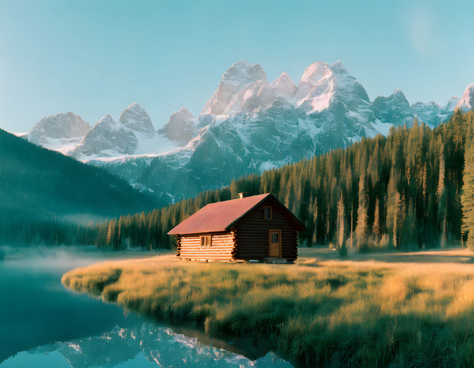
[(65, 229), (158, 205), (103, 169), (0, 129), (0, 243), (70, 243)]

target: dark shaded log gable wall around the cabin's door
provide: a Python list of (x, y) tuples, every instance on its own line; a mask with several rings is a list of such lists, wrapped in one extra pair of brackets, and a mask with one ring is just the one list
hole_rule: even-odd
[[(272, 219), (264, 219), (263, 206), (272, 207)], [(282, 257), (294, 261), (297, 256), (298, 238), (293, 220), (283, 212), (279, 205), (268, 199), (240, 219), (237, 230), (237, 259), (257, 259), (268, 257), (268, 230), (282, 231)]]

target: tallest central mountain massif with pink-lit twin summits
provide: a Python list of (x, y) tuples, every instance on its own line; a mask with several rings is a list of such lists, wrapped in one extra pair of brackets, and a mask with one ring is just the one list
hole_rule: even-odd
[(298, 88), (286, 73), (269, 84), (260, 65), (239, 61), (224, 73), (197, 121), (181, 109), (158, 130), (184, 146), (156, 156), (135, 151), (89, 162), (174, 201), (373, 137), (373, 124), (365, 89), (340, 61), (313, 63)]

